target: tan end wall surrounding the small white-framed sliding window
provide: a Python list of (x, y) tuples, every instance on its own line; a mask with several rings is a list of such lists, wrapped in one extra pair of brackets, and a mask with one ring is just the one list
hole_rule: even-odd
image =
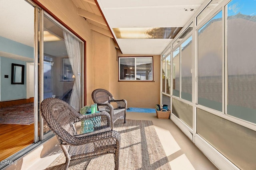
[[(160, 55), (124, 55), (120, 51), (118, 57), (153, 56), (154, 82), (118, 82), (119, 98), (126, 99), (128, 107), (154, 108), (160, 104)], [(117, 75), (118, 76), (118, 75)]]

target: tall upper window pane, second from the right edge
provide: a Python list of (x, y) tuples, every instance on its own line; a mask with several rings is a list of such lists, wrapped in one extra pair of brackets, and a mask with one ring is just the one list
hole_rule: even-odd
[(198, 30), (198, 104), (222, 111), (222, 11)]

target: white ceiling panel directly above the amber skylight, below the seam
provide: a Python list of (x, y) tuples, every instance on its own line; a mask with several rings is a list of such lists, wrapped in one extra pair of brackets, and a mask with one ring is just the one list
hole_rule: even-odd
[(106, 9), (110, 27), (183, 27), (200, 5)]

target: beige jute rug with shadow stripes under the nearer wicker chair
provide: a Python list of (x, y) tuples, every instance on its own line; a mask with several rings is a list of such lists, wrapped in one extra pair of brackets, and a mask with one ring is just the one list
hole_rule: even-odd
[[(114, 123), (121, 135), (120, 170), (170, 170), (168, 158), (152, 121), (123, 119)], [(60, 154), (46, 170), (61, 170), (65, 156)], [(70, 161), (69, 170), (114, 170), (113, 154)]]

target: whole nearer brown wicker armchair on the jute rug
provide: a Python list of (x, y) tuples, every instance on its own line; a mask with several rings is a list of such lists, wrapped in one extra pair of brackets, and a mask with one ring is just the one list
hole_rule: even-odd
[[(65, 169), (68, 169), (70, 160), (110, 153), (114, 154), (115, 170), (118, 170), (120, 134), (111, 130), (107, 112), (81, 115), (58, 98), (43, 100), (40, 110), (66, 156)], [(83, 120), (93, 122), (94, 131), (78, 135), (74, 123)]]

